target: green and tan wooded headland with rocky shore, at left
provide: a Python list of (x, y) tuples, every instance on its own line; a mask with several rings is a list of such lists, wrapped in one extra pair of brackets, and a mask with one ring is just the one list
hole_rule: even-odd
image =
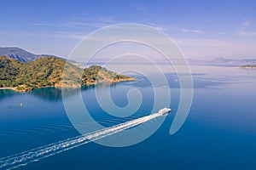
[(108, 71), (100, 65), (91, 65), (81, 69), (65, 59), (55, 57), (45, 57), (23, 63), (0, 56), (0, 89), (28, 92), (36, 88), (79, 88), (98, 83), (134, 80), (133, 77)]

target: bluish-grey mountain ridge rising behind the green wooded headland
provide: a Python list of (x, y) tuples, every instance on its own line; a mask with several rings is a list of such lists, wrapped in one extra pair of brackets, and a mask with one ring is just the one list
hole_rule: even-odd
[(0, 56), (16, 59), (22, 63), (30, 62), (44, 57), (56, 57), (49, 54), (32, 54), (22, 48), (0, 48)]

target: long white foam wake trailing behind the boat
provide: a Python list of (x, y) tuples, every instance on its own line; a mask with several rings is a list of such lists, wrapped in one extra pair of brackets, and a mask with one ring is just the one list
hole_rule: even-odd
[(152, 120), (158, 116), (162, 115), (159, 113), (154, 113), (149, 116), (143, 116), (129, 122), (115, 125), (113, 127), (106, 127), (93, 133), (87, 133), (72, 139), (61, 140), (60, 142), (44, 145), (33, 150), (27, 150), (13, 156), (3, 157), (0, 159), (0, 168), (13, 169), (16, 167), (21, 167), (32, 161), (39, 161), (45, 157), (53, 156), (65, 150), (76, 148), (80, 145), (95, 141), (96, 139), (102, 139), (111, 134), (119, 133), (125, 129), (142, 124), (143, 122), (148, 122), (149, 120)]

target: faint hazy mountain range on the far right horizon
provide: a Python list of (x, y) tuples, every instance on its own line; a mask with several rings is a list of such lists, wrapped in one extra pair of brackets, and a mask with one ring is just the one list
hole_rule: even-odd
[(256, 65), (256, 59), (224, 59), (217, 58), (211, 60), (203, 59), (188, 59), (190, 65), (226, 65), (226, 66), (237, 66), (237, 65)]

